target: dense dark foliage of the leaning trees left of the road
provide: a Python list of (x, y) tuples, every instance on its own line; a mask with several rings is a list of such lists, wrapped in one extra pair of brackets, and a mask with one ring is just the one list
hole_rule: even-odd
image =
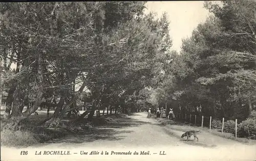
[(143, 106), (139, 92), (154, 82), (171, 45), (166, 14), (144, 15), (144, 4), (0, 4), (5, 116), (17, 123), (45, 104), (55, 107), (45, 121), (58, 124), (77, 113), (77, 102), (92, 104), (91, 118), (96, 108)]

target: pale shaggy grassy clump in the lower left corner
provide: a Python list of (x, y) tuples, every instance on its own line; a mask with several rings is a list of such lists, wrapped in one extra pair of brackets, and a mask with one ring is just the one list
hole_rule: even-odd
[(1, 131), (1, 146), (21, 147), (38, 143), (34, 133), (28, 130), (3, 129)]

